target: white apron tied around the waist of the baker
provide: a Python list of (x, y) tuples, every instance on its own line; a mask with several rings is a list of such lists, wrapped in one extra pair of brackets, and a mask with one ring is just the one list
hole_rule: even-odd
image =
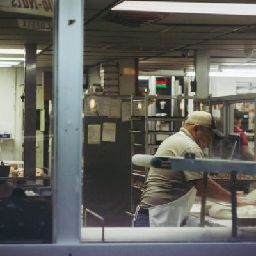
[(196, 188), (191, 188), (186, 195), (162, 205), (149, 208), (150, 227), (180, 227), (188, 217), (196, 198)]

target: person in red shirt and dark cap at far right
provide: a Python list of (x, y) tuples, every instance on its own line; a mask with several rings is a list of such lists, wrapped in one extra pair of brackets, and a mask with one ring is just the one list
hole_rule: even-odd
[(253, 154), (250, 152), (248, 147), (248, 139), (245, 132), (241, 129), (243, 114), (238, 110), (234, 109), (234, 133), (240, 134), (240, 157), (241, 160), (254, 160)]

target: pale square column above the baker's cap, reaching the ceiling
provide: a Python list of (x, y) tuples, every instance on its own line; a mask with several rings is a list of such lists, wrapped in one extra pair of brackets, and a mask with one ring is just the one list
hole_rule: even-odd
[(209, 70), (210, 56), (209, 51), (199, 50), (196, 53), (196, 95), (198, 98), (206, 98), (209, 96)]

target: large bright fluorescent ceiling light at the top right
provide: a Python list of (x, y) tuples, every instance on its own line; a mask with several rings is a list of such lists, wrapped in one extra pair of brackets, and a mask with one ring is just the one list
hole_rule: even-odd
[(256, 4), (124, 1), (111, 10), (255, 16)]

